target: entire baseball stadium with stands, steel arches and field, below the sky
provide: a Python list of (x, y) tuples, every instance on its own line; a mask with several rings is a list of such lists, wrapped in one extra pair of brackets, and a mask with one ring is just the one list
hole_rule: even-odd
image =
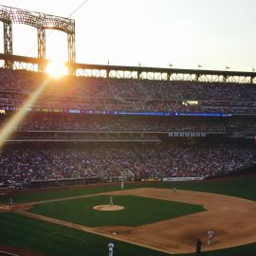
[[(0, 255), (256, 255), (254, 70), (82, 64), (70, 16), (0, 21)], [(14, 54), (17, 24), (37, 57)]]

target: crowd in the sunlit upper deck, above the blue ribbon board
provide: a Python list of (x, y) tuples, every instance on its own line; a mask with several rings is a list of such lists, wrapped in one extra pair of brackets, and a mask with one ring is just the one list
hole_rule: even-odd
[[(20, 107), (46, 80), (0, 69), (0, 105)], [(35, 107), (135, 112), (256, 113), (254, 84), (82, 78), (51, 81)]]

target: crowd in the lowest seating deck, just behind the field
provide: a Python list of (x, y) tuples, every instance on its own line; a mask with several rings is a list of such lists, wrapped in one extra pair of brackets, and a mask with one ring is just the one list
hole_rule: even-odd
[(229, 174), (256, 163), (256, 149), (233, 146), (133, 146), (11, 150), (0, 154), (0, 183), (100, 176), (114, 180)]

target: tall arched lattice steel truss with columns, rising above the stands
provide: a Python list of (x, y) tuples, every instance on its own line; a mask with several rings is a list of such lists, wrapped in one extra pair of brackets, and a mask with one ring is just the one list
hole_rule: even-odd
[[(67, 54), (69, 74), (75, 75), (72, 64), (76, 63), (75, 47), (75, 20), (64, 17), (49, 15), (27, 9), (17, 9), (0, 5), (0, 21), (4, 23), (4, 52), (12, 55), (12, 23), (26, 24), (37, 28), (38, 35), (38, 58), (46, 59), (46, 29), (55, 29), (67, 34)], [(45, 64), (42, 62), (42, 64)], [(6, 63), (5, 67), (12, 68), (12, 63)], [(45, 72), (46, 66), (39, 65), (38, 71)]]

